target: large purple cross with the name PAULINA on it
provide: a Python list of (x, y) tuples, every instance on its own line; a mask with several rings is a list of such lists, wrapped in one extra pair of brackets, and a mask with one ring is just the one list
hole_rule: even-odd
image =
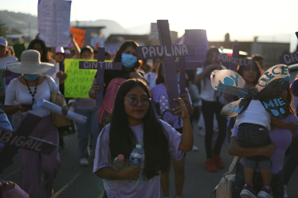
[(164, 81), (172, 111), (172, 108), (179, 105), (179, 102), (173, 101), (174, 98), (179, 98), (174, 57), (194, 56), (195, 48), (193, 45), (172, 45), (168, 20), (157, 20), (157, 28), (161, 45), (140, 46), (136, 48), (136, 51), (139, 60), (162, 58)]

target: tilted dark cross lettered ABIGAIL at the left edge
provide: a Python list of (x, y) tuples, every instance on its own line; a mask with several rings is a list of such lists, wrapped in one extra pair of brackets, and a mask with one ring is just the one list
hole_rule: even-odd
[(0, 152), (1, 163), (2, 160), (4, 164), (8, 163), (15, 153), (18, 153), (18, 148), (24, 148), (46, 155), (52, 153), (57, 145), (40, 138), (29, 136), (41, 119), (41, 116), (28, 112), (14, 132), (5, 131), (0, 128), (0, 142), (4, 143), (4, 147)]

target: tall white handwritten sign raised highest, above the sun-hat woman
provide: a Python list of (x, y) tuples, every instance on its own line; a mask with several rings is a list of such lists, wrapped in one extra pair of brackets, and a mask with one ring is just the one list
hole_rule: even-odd
[(68, 46), (71, 2), (38, 0), (38, 32), (47, 47)]

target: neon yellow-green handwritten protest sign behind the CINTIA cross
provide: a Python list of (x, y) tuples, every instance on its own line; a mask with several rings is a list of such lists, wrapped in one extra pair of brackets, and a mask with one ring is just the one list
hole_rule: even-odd
[(65, 98), (89, 98), (96, 69), (79, 69), (79, 61), (94, 61), (88, 59), (65, 58), (64, 73), (67, 78), (64, 80)]

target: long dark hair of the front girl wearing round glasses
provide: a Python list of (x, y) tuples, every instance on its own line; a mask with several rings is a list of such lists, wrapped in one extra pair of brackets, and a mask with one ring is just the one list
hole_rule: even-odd
[[(148, 98), (152, 98), (148, 84), (144, 80), (132, 78), (126, 80), (119, 88), (114, 110), (111, 115), (111, 127), (109, 133), (109, 147), (111, 151), (111, 163), (120, 153), (129, 158), (132, 149), (136, 145), (136, 137), (128, 125), (127, 114), (124, 110), (124, 97), (134, 87), (141, 87)], [(143, 142), (145, 149), (144, 175), (149, 179), (159, 175), (158, 171), (167, 170), (170, 163), (168, 152), (168, 140), (166, 133), (154, 113), (152, 104), (149, 104), (148, 112), (143, 118), (144, 132)]]

